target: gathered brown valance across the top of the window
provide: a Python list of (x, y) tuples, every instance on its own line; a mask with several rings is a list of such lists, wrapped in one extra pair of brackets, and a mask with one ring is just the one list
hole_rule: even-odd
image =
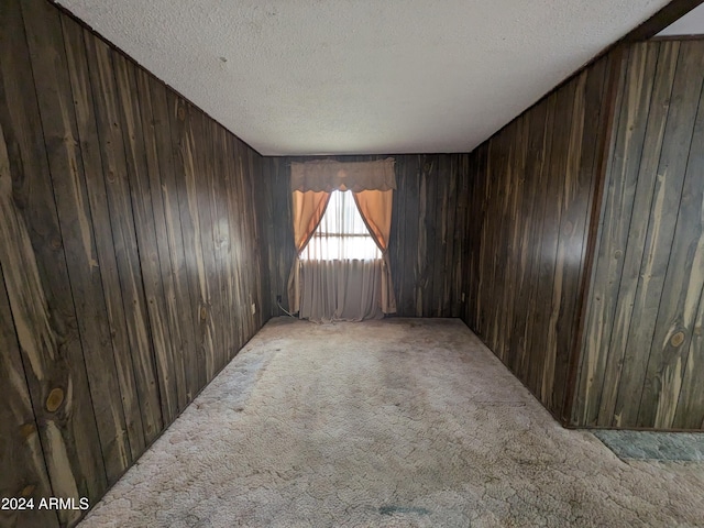
[(316, 160), (290, 164), (292, 190), (315, 193), (333, 190), (392, 190), (396, 188), (394, 158), (374, 162)]

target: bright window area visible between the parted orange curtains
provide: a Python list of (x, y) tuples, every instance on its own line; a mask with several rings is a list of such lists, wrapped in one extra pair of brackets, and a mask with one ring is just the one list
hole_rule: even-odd
[(381, 258), (352, 191), (333, 190), (318, 229), (300, 254), (304, 261)]

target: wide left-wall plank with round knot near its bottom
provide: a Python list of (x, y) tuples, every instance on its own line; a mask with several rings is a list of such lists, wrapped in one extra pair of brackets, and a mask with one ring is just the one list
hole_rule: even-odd
[(107, 479), (19, 2), (2, 2), (0, 35), (0, 266), (52, 490), (92, 502)]

